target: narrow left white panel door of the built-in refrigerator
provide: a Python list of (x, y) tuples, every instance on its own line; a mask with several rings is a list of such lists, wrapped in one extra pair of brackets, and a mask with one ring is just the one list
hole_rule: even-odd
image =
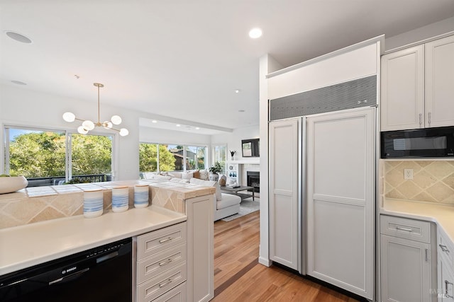
[(299, 120), (270, 122), (270, 259), (299, 269)]

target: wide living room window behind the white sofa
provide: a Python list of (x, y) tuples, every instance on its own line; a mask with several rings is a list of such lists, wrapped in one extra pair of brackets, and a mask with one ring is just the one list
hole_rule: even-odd
[(140, 173), (200, 170), (206, 166), (205, 155), (205, 146), (140, 143), (139, 170)]

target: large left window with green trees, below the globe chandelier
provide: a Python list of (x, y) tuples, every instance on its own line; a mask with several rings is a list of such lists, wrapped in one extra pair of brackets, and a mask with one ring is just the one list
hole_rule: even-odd
[(25, 176), (29, 187), (111, 180), (113, 135), (5, 127), (5, 138), (5, 173)]

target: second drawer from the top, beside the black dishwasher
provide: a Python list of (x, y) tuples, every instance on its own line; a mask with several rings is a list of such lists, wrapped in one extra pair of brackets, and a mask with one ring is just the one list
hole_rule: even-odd
[(137, 264), (137, 284), (162, 274), (167, 269), (186, 262), (186, 260), (186, 243), (145, 258)]

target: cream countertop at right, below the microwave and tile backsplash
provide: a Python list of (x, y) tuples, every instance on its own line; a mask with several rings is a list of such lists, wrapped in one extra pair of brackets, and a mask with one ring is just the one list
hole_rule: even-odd
[(437, 223), (454, 244), (454, 206), (433, 202), (409, 202), (400, 199), (385, 199), (380, 214), (402, 216)]

